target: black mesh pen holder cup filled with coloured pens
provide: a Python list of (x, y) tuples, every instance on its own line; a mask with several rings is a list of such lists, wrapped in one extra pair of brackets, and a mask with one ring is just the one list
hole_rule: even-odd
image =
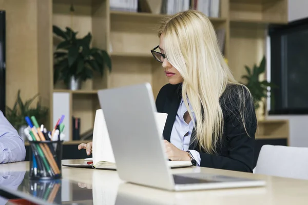
[(29, 141), (30, 179), (62, 178), (61, 160), (63, 141)]

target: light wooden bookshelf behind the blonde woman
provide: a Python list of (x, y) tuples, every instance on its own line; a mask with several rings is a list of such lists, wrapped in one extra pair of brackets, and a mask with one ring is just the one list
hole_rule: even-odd
[[(71, 3), (75, 7), (73, 16), (68, 14)], [(284, 0), (221, 0), (220, 17), (209, 19), (215, 29), (225, 29), (224, 56), (237, 80), (241, 80), (245, 72), (244, 65), (258, 63), (264, 55), (266, 25), (286, 23), (286, 11)], [(107, 0), (90, 3), (82, 0), (53, 1), (53, 24), (64, 28), (73, 19), (73, 29), (83, 35), (92, 32), (93, 46), (107, 50), (112, 59), (111, 73), (106, 72), (104, 78), (88, 80), (79, 91), (69, 91), (63, 89), (63, 85), (55, 85), (54, 92), (67, 92), (71, 95), (70, 115), (81, 118), (81, 133), (93, 126), (95, 110), (99, 109), (97, 90), (150, 82), (156, 97), (160, 88), (167, 83), (161, 64), (150, 53), (150, 49), (159, 44), (156, 31), (166, 16), (148, 12), (113, 11), (109, 9)], [(230, 52), (234, 50), (237, 52)], [(273, 122), (264, 121), (259, 125), (257, 139), (287, 137), (285, 133), (282, 136), (279, 135), (281, 133), (265, 132), (268, 127), (272, 128), (268, 125), (273, 125)], [(279, 125), (285, 128), (288, 126), (285, 121), (280, 121)], [(74, 142), (80, 143), (70, 143)]]

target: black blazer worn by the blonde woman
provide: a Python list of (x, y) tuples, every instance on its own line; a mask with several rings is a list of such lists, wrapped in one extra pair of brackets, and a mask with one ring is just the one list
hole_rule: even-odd
[[(165, 85), (159, 92), (156, 99), (158, 112), (167, 113), (168, 117), (164, 128), (164, 138), (170, 142), (171, 130), (176, 119), (178, 108), (180, 106), (182, 91), (181, 85)], [(244, 130), (239, 118), (239, 97), (236, 89), (238, 85), (227, 86), (226, 91), (220, 97), (220, 105), (224, 118), (224, 131), (221, 137), (221, 143), (217, 147), (217, 154), (208, 154), (199, 150), (198, 142), (189, 145), (190, 150), (197, 150), (200, 153), (200, 166), (216, 169), (235, 170), (243, 172), (253, 172), (254, 162), (254, 142), (257, 129), (257, 118), (254, 105), (248, 98), (246, 99), (245, 126), (249, 134)], [(229, 92), (230, 95), (226, 95)], [(247, 91), (245, 97), (249, 97)], [(230, 97), (226, 97), (230, 96)], [(192, 136), (196, 132), (192, 131)]]

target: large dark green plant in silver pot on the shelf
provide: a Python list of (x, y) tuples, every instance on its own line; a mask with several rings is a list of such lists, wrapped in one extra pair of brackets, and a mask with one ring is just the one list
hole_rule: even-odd
[(111, 71), (111, 59), (105, 50), (90, 48), (92, 35), (76, 38), (78, 32), (69, 27), (62, 30), (53, 26), (53, 33), (63, 39), (54, 52), (54, 84), (63, 80), (70, 90), (78, 90), (81, 83), (93, 77), (93, 71), (101, 76), (107, 66)]

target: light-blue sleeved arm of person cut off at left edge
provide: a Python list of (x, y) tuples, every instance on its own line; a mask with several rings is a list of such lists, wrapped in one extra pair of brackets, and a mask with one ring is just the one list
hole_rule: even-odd
[(23, 139), (0, 111), (0, 163), (25, 160)]

